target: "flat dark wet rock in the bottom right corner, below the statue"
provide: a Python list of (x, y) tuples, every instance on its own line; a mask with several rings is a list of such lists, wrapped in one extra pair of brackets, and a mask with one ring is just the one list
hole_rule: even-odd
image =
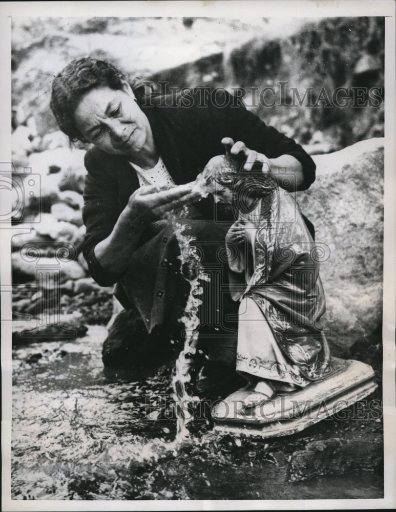
[(291, 456), (289, 480), (295, 482), (320, 475), (342, 475), (353, 470), (377, 470), (382, 463), (383, 445), (380, 441), (312, 441)]

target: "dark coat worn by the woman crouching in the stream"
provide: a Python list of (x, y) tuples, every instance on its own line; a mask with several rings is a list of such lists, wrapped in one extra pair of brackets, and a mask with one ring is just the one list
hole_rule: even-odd
[[(300, 190), (314, 182), (315, 163), (303, 148), (267, 126), (239, 100), (221, 90), (213, 102), (209, 91), (203, 95), (202, 91), (194, 92), (191, 98), (190, 106), (161, 105), (160, 98), (140, 105), (149, 119), (159, 154), (176, 184), (193, 181), (212, 157), (224, 154), (223, 137), (243, 141), (268, 158), (294, 156), (303, 166)], [(94, 280), (101, 286), (110, 286), (119, 281), (121, 274), (102, 269), (93, 249), (109, 236), (139, 181), (126, 157), (109, 155), (95, 147), (87, 152), (85, 166), (88, 176), (82, 210), (87, 227), (84, 257)], [(203, 201), (203, 209), (208, 208), (208, 201)]]

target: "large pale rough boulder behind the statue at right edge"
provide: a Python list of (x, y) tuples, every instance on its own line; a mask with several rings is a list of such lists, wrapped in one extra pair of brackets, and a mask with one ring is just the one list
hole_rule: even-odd
[(316, 181), (297, 201), (328, 246), (323, 319), (330, 340), (348, 349), (382, 322), (384, 139), (313, 158)]

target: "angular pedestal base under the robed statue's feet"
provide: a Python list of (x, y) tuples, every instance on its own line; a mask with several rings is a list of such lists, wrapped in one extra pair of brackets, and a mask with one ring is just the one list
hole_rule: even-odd
[(258, 405), (248, 412), (235, 392), (212, 409), (214, 430), (262, 438), (288, 436), (362, 400), (377, 388), (369, 365), (332, 358), (335, 372), (305, 388)]

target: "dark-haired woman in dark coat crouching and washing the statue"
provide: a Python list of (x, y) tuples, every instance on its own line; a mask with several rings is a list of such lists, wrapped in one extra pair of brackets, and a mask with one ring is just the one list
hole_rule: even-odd
[[(187, 98), (178, 97), (177, 105), (158, 97), (147, 101), (141, 83), (131, 87), (109, 62), (84, 57), (54, 78), (51, 108), (71, 141), (92, 144), (85, 158), (83, 209), (83, 252), (90, 273), (102, 286), (117, 283), (118, 300), (126, 309), (137, 308), (149, 332), (168, 320), (176, 322), (187, 294), (175, 236), (165, 220), (168, 212), (195, 203), (185, 224), (202, 243), (204, 264), (213, 264), (216, 244), (224, 243), (224, 224), (217, 222), (213, 200), (201, 200), (191, 185), (207, 161), (227, 146), (232, 154), (244, 155), (246, 169), (255, 162), (265, 164), (265, 172), (283, 169), (276, 179), (286, 183), (285, 176), (293, 176), (290, 189), (303, 190), (315, 179), (315, 164), (300, 145), (225, 91), (216, 97), (207, 90), (191, 91)], [(235, 312), (235, 303), (225, 294), (220, 306), (210, 305), (221, 309), (215, 323), (201, 323), (212, 336), (210, 361), (228, 371), (235, 365), (236, 335), (230, 335), (225, 318)]]

